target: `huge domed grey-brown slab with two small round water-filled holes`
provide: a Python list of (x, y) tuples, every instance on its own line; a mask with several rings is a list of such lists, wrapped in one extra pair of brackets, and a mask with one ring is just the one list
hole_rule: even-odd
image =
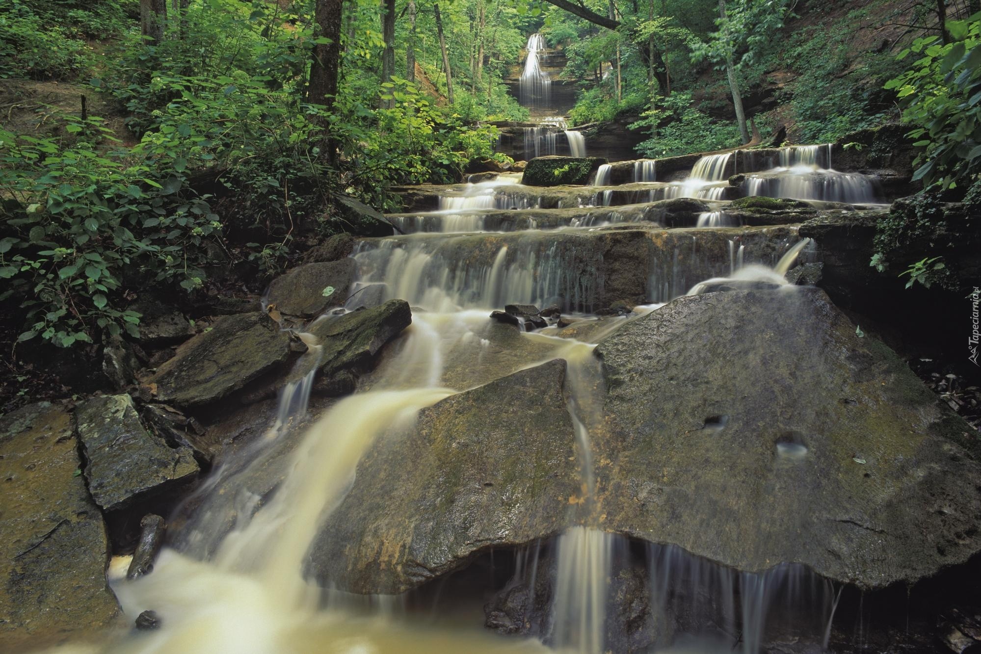
[(682, 297), (596, 354), (603, 528), (864, 587), (981, 549), (976, 434), (823, 291)]

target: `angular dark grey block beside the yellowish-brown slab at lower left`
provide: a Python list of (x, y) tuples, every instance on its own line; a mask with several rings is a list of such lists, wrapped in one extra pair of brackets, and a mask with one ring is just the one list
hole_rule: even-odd
[(189, 447), (170, 447), (139, 420), (129, 395), (105, 395), (76, 409), (84, 474), (95, 502), (118, 511), (197, 476)]

